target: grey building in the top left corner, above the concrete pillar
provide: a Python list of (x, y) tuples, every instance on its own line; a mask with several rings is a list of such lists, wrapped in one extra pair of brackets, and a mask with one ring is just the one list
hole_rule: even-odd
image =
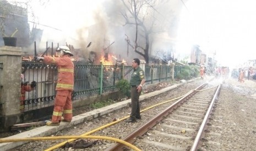
[(4, 45), (2, 37), (10, 37), (15, 30), (18, 30), (13, 37), (17, 37), (17, 47), (28, 47), (30, 44), (40, 43), (42, 30), (32, 27), (30, 32), (28, 9), (21, 7), (19, 3), (10, 4), (7, 1), (0, 1), (0, 46)]

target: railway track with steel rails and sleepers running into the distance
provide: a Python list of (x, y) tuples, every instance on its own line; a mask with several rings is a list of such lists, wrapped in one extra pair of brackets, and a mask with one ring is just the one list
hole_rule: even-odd
[[(123, 140), (143, 150), (197, 150), (219, 90), (200, 85)], [(124, 148), (116, 143), (106, 150)]]

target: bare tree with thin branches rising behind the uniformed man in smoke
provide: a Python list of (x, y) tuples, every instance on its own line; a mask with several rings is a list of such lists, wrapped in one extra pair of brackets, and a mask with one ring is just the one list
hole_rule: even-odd
[[(154, 41), (150, 35), (152, 33), (166, 31), (165, 27), (163, 27), (166, 25), (162, 23), (163, 20), (168, 19), (165, 18), (165, 16), (162, 16), (161, 19), (157, 17), (159, 14), (162, 15), (160, 11), (157, 10), (157, 7), (167, 2), (156, 0), (122, 0), (122, 2), (124, 9), (121, 11), (121, 14), (125, 20), (124, 26), (135, 26), (134, 42), (131, 43), (129, 37), (126, 35), (127, 43), (136, 53), (144, 57), (146, 63), (149, 63), (149, 49)], [(168, 15), (170, 18), (170, 14)]]

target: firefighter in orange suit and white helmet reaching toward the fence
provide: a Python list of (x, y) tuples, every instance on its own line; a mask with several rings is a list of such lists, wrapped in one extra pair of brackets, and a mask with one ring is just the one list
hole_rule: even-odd
[(58, 47), (56, 51), (59, 57), (36, 57), (37, 61), (42, 60), (45, 63), (55, 63), (58, 67), (55, 106), (51, 121), (46, 122), (48, 126), (56, 126), (61, 121), (70, 122), (72, 120), (71, 94), (74, 87), (74, 63), (70, 56), (73, 56), (73, 54), (66, 45)]

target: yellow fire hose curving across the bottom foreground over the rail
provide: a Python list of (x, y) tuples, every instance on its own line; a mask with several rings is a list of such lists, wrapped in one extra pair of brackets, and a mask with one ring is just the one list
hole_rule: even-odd
[(0, 143), (6, 143), (6, 142), (23, 142), (23, 141), (41, 141), (41, 140), (60, 140), (60, 139), (70, 139), (70, 138), (92, 138), (92, 139), (101, 139), (101, 140), (110, 140), (110, 141), (115, 141), (118, 143), (122, 143), (134, 150), (140, 151), (139, 148), (133, 146), (132, 144), (119, 140), (117, 138), (113, 137), (106, 137), (106, 136), (53, 136), (53, 137), (34, 137), (34, 138), (17, 138), (17, 139), (0, 139)]

